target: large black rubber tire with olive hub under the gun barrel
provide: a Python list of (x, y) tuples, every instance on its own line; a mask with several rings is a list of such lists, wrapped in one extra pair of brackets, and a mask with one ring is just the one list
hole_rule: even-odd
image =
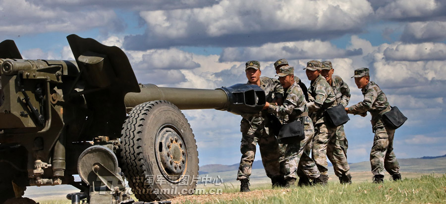
[(123, 124), (120, 140), (121, 167), (139, 201), (194, 193), (197, 145), (187, 119), (175, 105), (155, 101), (135, 106)]

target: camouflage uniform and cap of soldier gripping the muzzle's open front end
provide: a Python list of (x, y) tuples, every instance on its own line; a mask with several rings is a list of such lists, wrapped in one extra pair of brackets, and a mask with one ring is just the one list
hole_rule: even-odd
[[(280, 70), (280, 74), (293, 72), (293, 68), (288, 66), (281, 67)], [(268, 112), (277, 115), (282, 123), (289, 123), (295, 120), (303, 119), (305, 133), (305, 139), (300, 141), (299, 143), (281, 144), (281, 149), (284, 153), (284, 165), (282, 166), (282, 168), (284, 171), (284, 178), (286, 180), (290, 178), (297, 178), (300, 159), (312, 160), (308, 155), (304, 154), (304, 152), (305, 149), (311, 148), (311, 146), (308, 145), (311, 145), (311, 141), (314, 135), (314, 127), (310, 117), (307, 116), (308, 108), (305, 105), (306, 101), (302, 89), (295, 82), (290, 87), (288, 87), (288, 89), (286, 89), (283, 98), (285, 99), (283, 105), (270, 103)], [(313, 175), (313, 178), (318, 176), (319, 174)]]

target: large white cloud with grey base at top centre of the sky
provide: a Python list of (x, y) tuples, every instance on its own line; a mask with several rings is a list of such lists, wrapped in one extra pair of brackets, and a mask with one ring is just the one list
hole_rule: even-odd
[(366, 0), (221, 0), (202, 8), (141, 11), (146, 33), (132, 50), (175, 45), (259, 45), (359, 32), (373, 13)]

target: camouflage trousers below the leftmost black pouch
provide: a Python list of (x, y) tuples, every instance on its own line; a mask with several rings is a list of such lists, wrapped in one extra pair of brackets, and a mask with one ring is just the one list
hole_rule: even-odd
[(309, 117), (305, 117), (304, 125), (305, 139), (292, 144), (279, 144), (282, 153), (280, 157), (280, 171), (284, 178), (297, 178), (306, 175), (310, 179), (319, 177), (320, 173), (316, 166), (305, 166), (311, 163), (311, 144), (314, 136), (313, 123)]

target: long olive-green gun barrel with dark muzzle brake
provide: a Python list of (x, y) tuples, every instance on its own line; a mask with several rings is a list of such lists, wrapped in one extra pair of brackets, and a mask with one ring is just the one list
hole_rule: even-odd
[(265, 92), (260, 87), (236, 84), (216, 90), (165, 88), (153, 84), (141, 87), (140, 93), (125, 95), (126, 107), (134, 107), (143, 102), (165, 100), (179, 109), (218, 109), (234, 114), (256, 114), (265, 105)]

